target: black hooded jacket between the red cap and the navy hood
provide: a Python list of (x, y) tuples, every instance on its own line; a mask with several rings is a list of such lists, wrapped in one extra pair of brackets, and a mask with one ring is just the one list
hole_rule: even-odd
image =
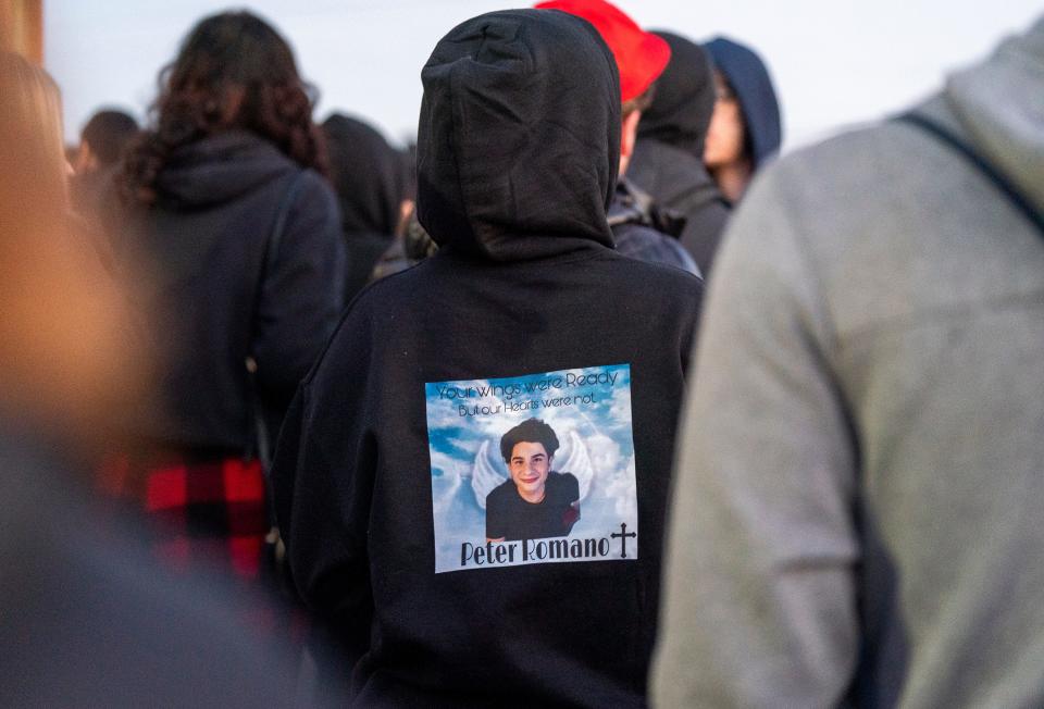
[(714, 109), (710, 59), (698, 45), (666, 32), (671, 61), (642, 114), (627, 177), (663, 208), (685, 216), (682, 246), (709, 273), (729, 204), (704, 166), (704, 140)]

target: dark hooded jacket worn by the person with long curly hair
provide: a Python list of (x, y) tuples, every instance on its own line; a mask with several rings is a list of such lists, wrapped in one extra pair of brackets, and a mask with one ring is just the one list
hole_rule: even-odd
[[(178, 149), (157, 188), (156, 206), (124, 214), (117, 232), (151, 260), (138, 291), (163, 360), (160, 413), (128, 425), (165, 447), (241, 455), (257, 439), (254, 389), (277, 431), (344, 307), (337, 203), (319, 174), (246, 132)], [(281, 209), (285, 228), (259, 294)]]

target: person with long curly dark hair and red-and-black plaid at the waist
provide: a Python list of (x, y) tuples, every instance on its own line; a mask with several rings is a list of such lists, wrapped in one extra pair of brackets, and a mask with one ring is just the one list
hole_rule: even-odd
[(160, 400), (132, 415), (141, 449), (110, 481), (138, 482), (171, 524), (162, 550), (178, 564), (216, 550), (240, 575), (260, 573), (259, 459), (344, 304), (310, 94), (264, 21), (207, 17), (160, 73), (124, 164), (116, 248), (152, 264), (140, 304), (164, 362)]

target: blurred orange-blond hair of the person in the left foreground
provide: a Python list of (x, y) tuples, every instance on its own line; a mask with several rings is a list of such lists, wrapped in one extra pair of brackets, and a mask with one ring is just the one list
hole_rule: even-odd
[(0, 425), (104, 437), (140, 383), (129, 307), (67, 213), (61, 96), (0, 52)]

